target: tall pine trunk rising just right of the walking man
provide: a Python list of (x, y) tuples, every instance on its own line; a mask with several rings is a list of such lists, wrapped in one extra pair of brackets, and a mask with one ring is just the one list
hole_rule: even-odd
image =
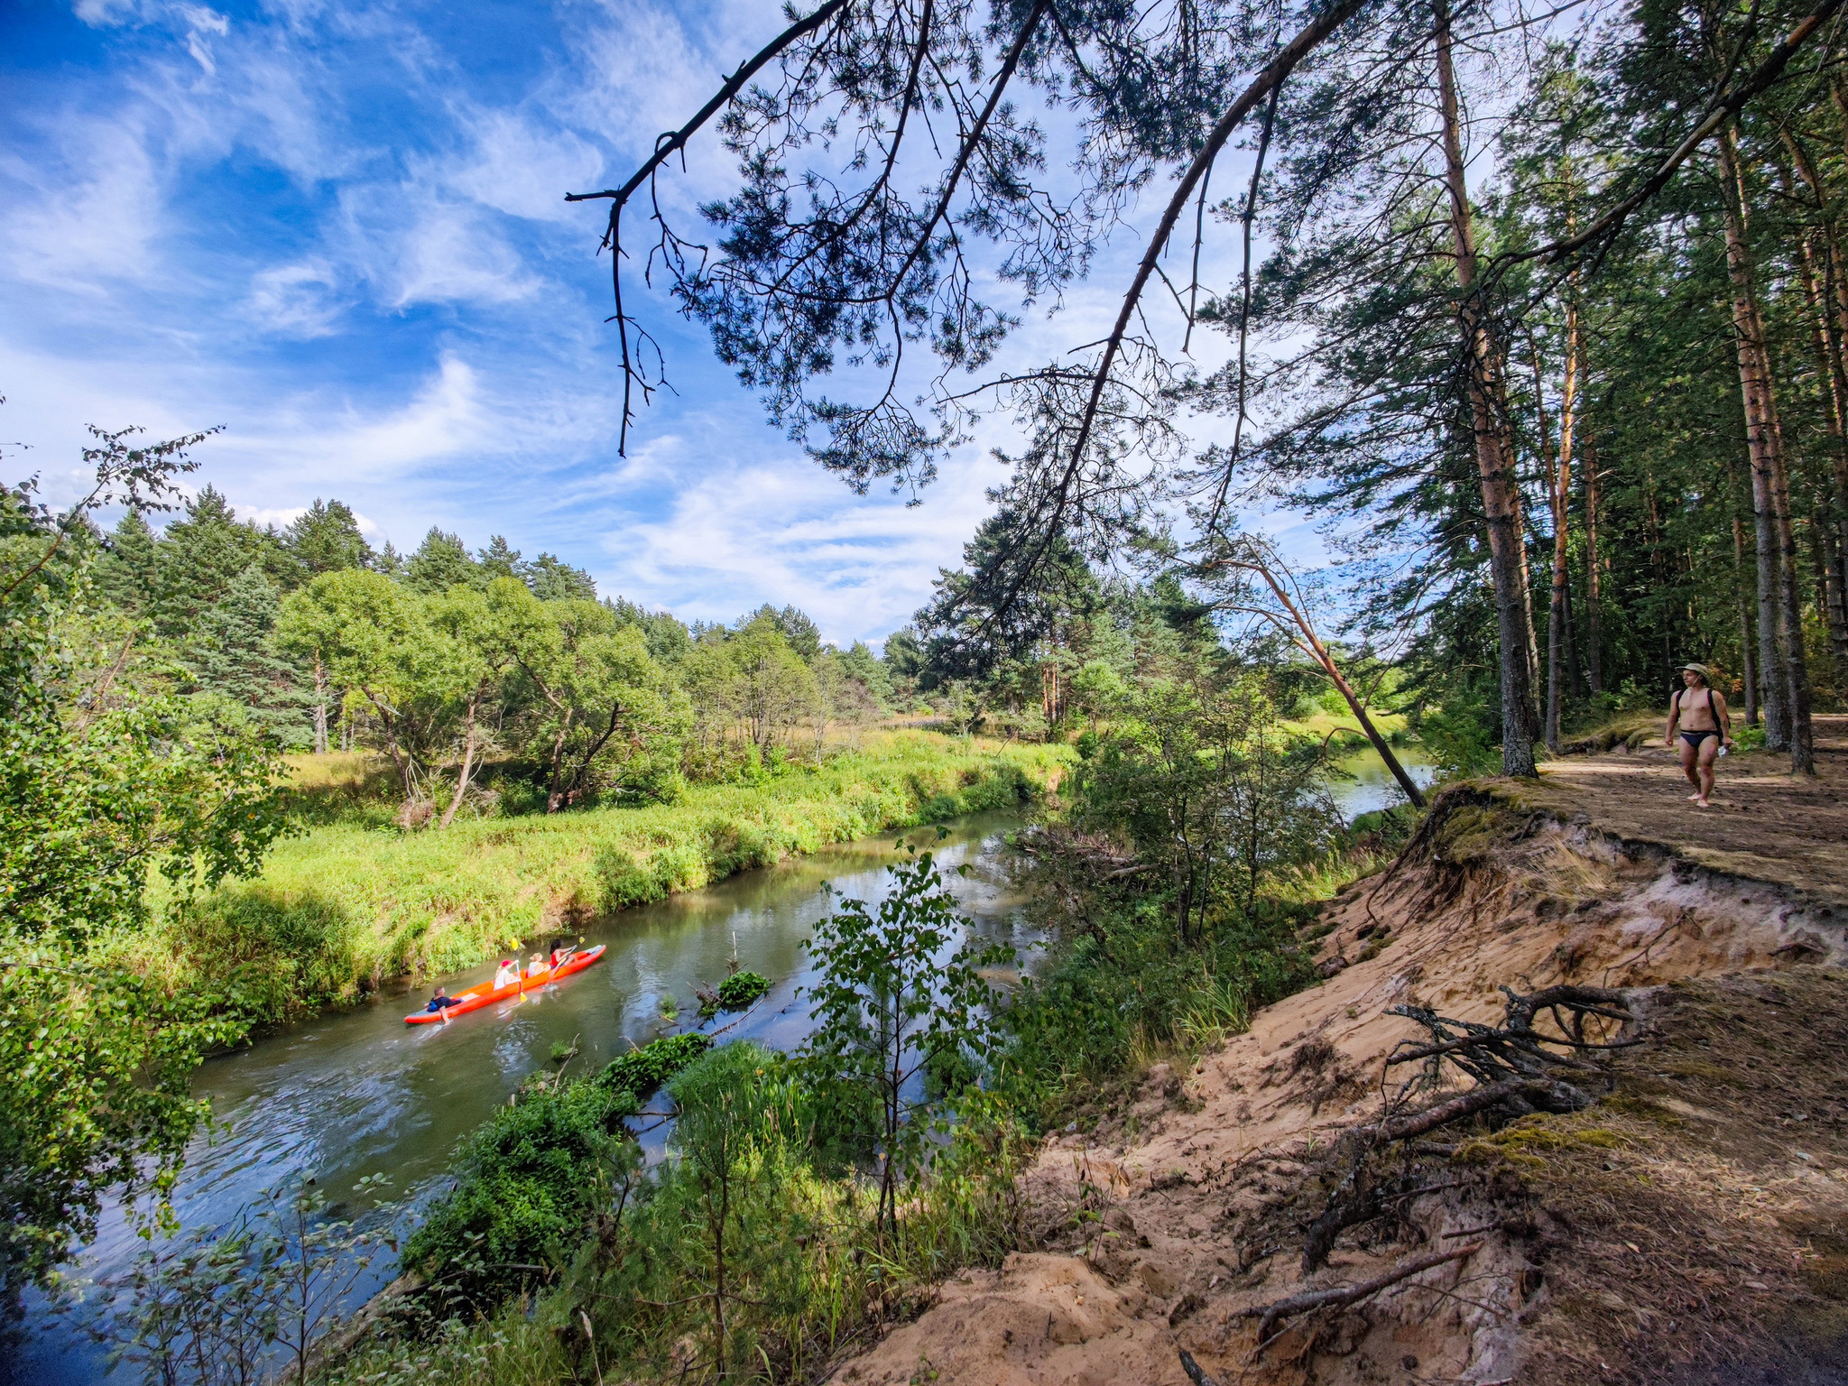
[(1745, 399), (1746, 453), (1752, 460), (1752, 510), (1757, 529), (1757, 652), (1765, 686), (1765, 743), (1791, 752), (1791, 769), (1815, 772), (1809, 728), (1809, 675), (1804, 662), (1802, 606), (1796, 588), (1796, 536), (1791, 527), (1791, 479), (1772, 388), (1770, 349), (1757, 307), (1746, 240), (1745, 177), (1737, 131), (1719, 144), (1726, 181), (1726, 272), (1733, 288), (1733, 338), (1739, 392)]

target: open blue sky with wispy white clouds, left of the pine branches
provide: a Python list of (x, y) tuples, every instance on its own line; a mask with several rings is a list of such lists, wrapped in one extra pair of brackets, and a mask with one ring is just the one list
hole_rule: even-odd
[[(54, 499), (83, 425), (225, 425), (196, 480), (286, 521), (340, 497), (373, 541), (505, 534), (686, 619), (796, 602), (878, 638), (1000, 480), (983, 438), (926, 503), (854, 497), (656, 305), (678, 395), (615, 455), (606, 187), (780, 28), (769, 0), (0, 7), (0, 442)], [(724, 187), (711, 142), (669, 185)], [(1020, 349), (1088, 331), (1094, 283)], [(1044, 357), (1042, 357), (1044, 359)], [(30, 451), (17, 451), (30, 445)]]

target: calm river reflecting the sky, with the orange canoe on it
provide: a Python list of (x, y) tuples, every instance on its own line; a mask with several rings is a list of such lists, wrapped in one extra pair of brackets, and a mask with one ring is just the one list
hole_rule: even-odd
[[(1408, 769), (1429, 782), (1416, 748)], [(1371, 750), (1336, 761), (1331, 784), (1349, 817), (1393, 802), (1397, 787)], [(1037, 937), (1020, 917), (1002, 869), (1002, 835), (1015, 815), (978, 815), (950, 824), (948, 837), (915, 830), (931, 845), (944, 880), (983, 939), (1011, 942), (1031, 957)], [(771, 978), (771, 992), (741, 1020), (719, 1016), (734, 1039), (795, 1048), (808, 1033), (808, 1007), (796, 991), (808, 981), (802, 942), (830, 909), (822, 885), (843, 896), (878, 900), (885, 867), (898, 859), (896, 833), (830, 846), (750, 870), (704, 891), (626, 909), (584, 931), (608, 946), (586, 972), (521, 1002), (477, 1011), (447, 1026), (407, 1026), (429, 989), (386, 996), (268, 1035), (237, 1053), (213, 1059), (194, 1083), (211, 1098), (214, 1129), (188, 1151), (174, 1194), (185, 1227), (214, 1227), (262, 1190), (312, 1172), (331, 1199), (347, 1198), (370, 1173), (386, 1173), (397, 1196), (434, 1186), (456, 1142), (506, 1103), (536, 1068), (549, 1066), (554, 1044), (578, 1044), (575, 1072), (601, 1068), (630, 1044), (697, 1022), (695, 989), (739, 967)], [(955, 867), (968, 865), (967, 876)], [(445, 978), (451, 991), (484, 981), (493, 965)], [(673, 998), (678, 1016), (663, 1015)], [(736, 1022), (736, 1024), (734, 1024)], [(658, 1146), (656, 1131), (649, 1144)], [(128, 1266), (142, 1244), (120, 1209), (111, 1209), (96, 1240), (72, 1268), (103, 1277)], [(384, 1266), (381, 1264), (381, 1273)], [(31, 1334), (17, 1353), (0, 1351), (0, 1382), (79, 1386), (109, 1380), (102, 1355), (68, 1316), (28, 1303)], [(126, 1373), (116, 1373), (118, 1379)]]

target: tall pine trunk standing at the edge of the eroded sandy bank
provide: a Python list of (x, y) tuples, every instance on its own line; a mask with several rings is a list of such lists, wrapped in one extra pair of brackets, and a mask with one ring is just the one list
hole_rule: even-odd
[(1451, 57), (1447, 0), (1436, 7), (1438, 96), (1443, 115), (1443, 161), (1451, 194), (1451, 246), (1456, 257), (1456, 320), (1469, 370), (1469, 419), (1477, 469), (1482, 477), (1482, 514), (1489, 541), (1489, 580), (1495, 590), (1495, 630), (1501, 647), (1502, 772), (1532, 776), (1539, 739), (1534, 710), (1534, 614), (1528, 604), (1526, 543), (1521, 534), (1521, 493), (1501, 414), (1502, 351), (1477, 292), (1477, 244), (1464, 176), (1464, 140), (1456, 107), (1456, 70)]

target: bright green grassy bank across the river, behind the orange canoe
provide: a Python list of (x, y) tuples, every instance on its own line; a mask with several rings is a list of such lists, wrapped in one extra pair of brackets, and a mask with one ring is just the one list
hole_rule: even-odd
[(760, 784), (699, 785), (676, 804), (445, 830), (355, 813), (286, 837), (257, 880), (192, 904), (155, 887), (155, 922), (111, 954), (174, 991), (209, 978), (255, 1022), (279, 1022), (793, 854), (1031, 802), (1070, 756), (893, 732)]

